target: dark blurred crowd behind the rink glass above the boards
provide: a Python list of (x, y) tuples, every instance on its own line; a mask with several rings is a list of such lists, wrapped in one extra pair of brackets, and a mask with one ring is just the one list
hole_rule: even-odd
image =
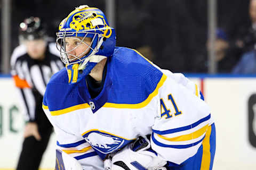
[[(41, 18), (47, 25), (47, 34), (55, 40), (58, 24), (74, 6), (88, 4), (106, 13), (106, 2), (12, 0), (11, 51), (19, 44), (18, 25), (24, 18)], [(208, 1), (116, 0), (114, 3), (117, 46), (138, 49), (158, 66), (173, 72), (209, 71)], [(255, 0), (218, 1), (215, 36), (214, 60), (218, 73), (256, 73)], [(4, 43), (2, 39), (0, 46)]]

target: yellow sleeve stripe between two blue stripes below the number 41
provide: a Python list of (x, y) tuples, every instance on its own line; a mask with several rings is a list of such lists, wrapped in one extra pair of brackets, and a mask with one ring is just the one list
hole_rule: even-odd
[(168, 141), (171, 141), (171, 142), (181, 142), (181, 141), (187, 141), (187, 140), (192, 140), (192, 139), (201, 137), (205, 133), (205, 131), (207, 130), (208, 127), (209, 127), (208, 125), (205, 125), (203, 128), (201, 128), (193, 133), (181, 135), (179, 137), (174, 137), (174, 138), (166, 138), (160, 134), (157, 134), (157, 135), (158, 135), (158, 137), (168, 140)]

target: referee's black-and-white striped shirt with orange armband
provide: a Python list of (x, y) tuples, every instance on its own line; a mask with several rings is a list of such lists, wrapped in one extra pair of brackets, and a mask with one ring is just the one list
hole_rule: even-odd
[(63, 67), (55, 43), (47, 44), (44, 60), (30, 58), (25, 45), (13, 50), (11, 74), (21, 96), (21, 104), (25, 108), (26, 121), (37, 121), (37, 114), (42, 111), (46, 84)]

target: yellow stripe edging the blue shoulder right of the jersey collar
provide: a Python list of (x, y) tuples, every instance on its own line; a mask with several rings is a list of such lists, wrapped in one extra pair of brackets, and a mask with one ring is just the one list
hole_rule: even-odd
[(138, 104), (106, 103), (102, 107), (111, 107), (111, 108), (142, 108), (142, 107), (145, 107), (149, 104), (151, 99), (153, 99), (153, 97), (155, 97), (158, 94), (159, 88), (161, 88), (163, 86), (166, 79), (167, 79), (166, 75), (163, 74), (161, 80), (158, 82), (158, 84), (156, 86), (156, 89), (153, 92), (151, 92), (151, 94), (148, 96), (148, 98), (146, 100), (142, 101), (141, 103), (138, 103)]

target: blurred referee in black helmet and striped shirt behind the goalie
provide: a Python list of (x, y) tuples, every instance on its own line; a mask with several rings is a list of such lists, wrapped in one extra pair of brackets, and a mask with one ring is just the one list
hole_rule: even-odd
[(41, 19), (31, 16), (19, 25), (20, 46), (11, 57), (11, 74), (25, 107), (26, 126), (18, 170), (38, 169), (52, 133), (42, 109), (51, 76), (63, 68), (55, 43), (46, 40)]

